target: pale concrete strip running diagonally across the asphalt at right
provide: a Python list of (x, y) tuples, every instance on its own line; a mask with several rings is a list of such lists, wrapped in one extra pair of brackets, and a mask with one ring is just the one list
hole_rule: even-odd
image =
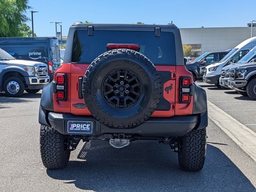
[(256, 133), (207, 101), (209, 118), (256, 162)]

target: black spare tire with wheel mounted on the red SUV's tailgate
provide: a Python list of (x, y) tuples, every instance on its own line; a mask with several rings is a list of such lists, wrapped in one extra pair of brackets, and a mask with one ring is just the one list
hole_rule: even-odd
[(98, 56), (84, 75), (83, 97), (92, 115), (113, 128), (130, 128), (147, 120), (162, 91), (154, 64), (129, 49)]

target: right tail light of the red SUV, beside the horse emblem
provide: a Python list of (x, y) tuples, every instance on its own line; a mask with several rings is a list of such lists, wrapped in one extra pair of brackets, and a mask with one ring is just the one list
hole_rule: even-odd
[(191, 78), (180, 77), (180, 103), (191, 102)]

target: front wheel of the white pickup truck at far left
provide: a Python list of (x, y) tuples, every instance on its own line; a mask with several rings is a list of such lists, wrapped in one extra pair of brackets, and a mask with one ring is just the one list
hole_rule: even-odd
[(24, 90), (24, 83), (18, 77), (10, 77), (4, 82), (4, 92), (8, 97), (19, 97)]

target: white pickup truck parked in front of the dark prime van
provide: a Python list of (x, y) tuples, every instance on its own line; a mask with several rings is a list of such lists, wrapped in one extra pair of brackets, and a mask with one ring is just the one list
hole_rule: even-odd
[(28, 93), (39, 92), (49, 82), (46, 64), (16, 60), (0, 48), (0, 92), (19, 97), (24, 90)]

